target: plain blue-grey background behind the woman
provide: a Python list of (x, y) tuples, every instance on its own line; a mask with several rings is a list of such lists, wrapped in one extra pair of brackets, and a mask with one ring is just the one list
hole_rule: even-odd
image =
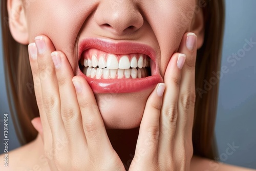
[[(256, 1), (226, 0), (226, 27), (223, 44), (222, 66), (228, 68), (220, 82), (216, 138), (218, 160), (256, 168), (256, 45), (246, 52), (236, 65), (227, 59), (232, 53), (241, 52), (245, 39), (256, 42)], [(19, 146), (7, 102), (4, 79), (2, 39), (0, 41), (0, 130), (3, 114), (9, 113), (9, 149)], [(3, 139), (3, 131), (0, 132)], [(237, 146), (233, 150), (229, 145)], [(3, 153), (3, 143), (0, 143)]]

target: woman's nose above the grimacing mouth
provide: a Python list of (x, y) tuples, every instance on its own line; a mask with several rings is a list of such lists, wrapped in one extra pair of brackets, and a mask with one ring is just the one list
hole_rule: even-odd
[(115, 35), (133, 33), (144, 22), (136, 3), (131, 0), (104, 0), (95, 11), (94, 18), (101, 29)]

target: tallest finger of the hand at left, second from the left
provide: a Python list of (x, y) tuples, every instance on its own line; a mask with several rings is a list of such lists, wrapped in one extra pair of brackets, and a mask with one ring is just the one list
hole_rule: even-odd
[(60, 99), (58, 82), (54, 70), (51, 52), (55, 50), (51, 40), (46, 36), (35, 37), (37, 47), (37, 63), (41, 83), (42, 103), (53, 139), (65, 136), (65, 130), (60, 115)]

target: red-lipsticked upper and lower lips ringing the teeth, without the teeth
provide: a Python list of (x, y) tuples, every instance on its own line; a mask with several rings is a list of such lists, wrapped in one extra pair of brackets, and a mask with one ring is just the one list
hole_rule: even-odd
[(145, 78), (122, 78), (122, 79), (94, 79), (84, 75), (81, 70), (77, 74), (82, 76), (90, 84), (94, 93), (133, 93), (156, 87), (157, 83), (163, 82), (158, 66), (156, 65), (156, 53), (153, 48), (144, 44), (130, 41), (113, 42), (107, 39), (88, 38), (78, 44), (78, 61), (84, 51), (98, 49), (110, 54), (141, 53), (151, 58), (151, 76)]

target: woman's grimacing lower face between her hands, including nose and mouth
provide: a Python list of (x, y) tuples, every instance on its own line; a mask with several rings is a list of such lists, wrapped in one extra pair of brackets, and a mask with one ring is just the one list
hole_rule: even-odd
[[(139, 126), (148, 96), (190, 30), (195, 1), (34, 1), (29, 42), (48, 36), (95, 93), (105, 126)], [(141, 59), (142, 58), (142, 59)], [(86, 94), (85, 94), (86, 96)]]

